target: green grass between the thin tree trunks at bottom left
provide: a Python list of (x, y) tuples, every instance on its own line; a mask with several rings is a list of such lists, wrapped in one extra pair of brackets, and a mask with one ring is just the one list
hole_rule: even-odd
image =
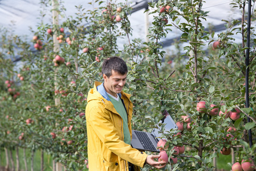
[[(15, 150), (12, 151), (13, 154), (13, 160), (14, 160), (14, 165), (16, 166), (16, 152)], [(6, 165), (6, 158), (5, 158), (5, 151), (1, 150), (0, 151), (0, 158), (1, 158), (1, 162), (0, 162), (0, 166), (5, 166)], [(20, 170), (25, 170), (25, 164), (23, 161), (23, 149), (19, 149), (19, 169)], [(31, 168), (31, 150), (26, 149), (26, 160), (27, 160), (27, 169), (30, 170)], [(11, 165), (10, 162), (10, 155), (9, 155), (9, 163)], [(41, 151), (37, 150), (34, 153), (34, 171), (40, 171), (41, 170)], [(52, 165), (53, 165), (53, 160), (52, 157), (47, 154), (44, 153), (44, 170), (45, 171), (52, 171)]]

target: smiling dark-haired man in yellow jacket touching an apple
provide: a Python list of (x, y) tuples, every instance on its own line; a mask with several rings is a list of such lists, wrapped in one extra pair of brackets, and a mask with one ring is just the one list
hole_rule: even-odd
[(140, 170), (145, 164), (160, 169), (166, 165), (154, 161), (160, 155), (147, 155), (130, 145), (131, 95), (122, 91), (127, 72), (123, 59), (115, 56), (104, 60), (104, 83), (95, 82), (88, 92), (85, 116), (89, 170)]

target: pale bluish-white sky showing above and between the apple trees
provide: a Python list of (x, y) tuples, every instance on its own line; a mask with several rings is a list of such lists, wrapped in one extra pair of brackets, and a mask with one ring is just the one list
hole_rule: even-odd
[[(85, 9), (93, 9), (92, 5), (89, 5), (89, 0), (61, 0), (66, 8), (65, 14), (67, 16), (74, 15), (77, 10), (75, 6), (82, 5)], [(109, 0), (106, 0), (109, 1)], [(139, 2), (139, 0), (132, 0), (128, 3), (132, 5), (134, 2)], [(117, 1), (117, 2), (124, 2), (124, 1)], [(206, 3), (203, 5), (204, 11), (210, 11), (208, 13), (207, 21), (203, 21), (205, 26), (208, 23), (212, 25), (219, 25), (220, 23), (224, 22), (222, 19), (231, 19), (231, 18), (239, 18), (241, 17), (241, 11), (237, 9), (232, 9), (230, 6), (230, 0), (206, 0)], [(105, 3), (103, 3), (105, 5)], [(97, 7), (94, 5), (94, 7)], [(38, 23), (41, 21), (40, 11), (48, 11), (46, 13), (46, 17), (44, 22), (50, 23), (52, 22), (51, 13), (49, 10), (52, 7), (44, 7), (40, 5), (40, 0), (0, 0), (0, 25), (4, 27), (9, 27), (14, 30), (14, 33), (17, 35), (31, 35), (30, 27), (33, 30), (37, 29)], [(141, 9), (131, 16), (129, 16), (129, 20), (131, 22), (131, 27), (133, 28), (133, 36), (132, 38), (141, 38), (145, 40), (145, 16), (144, 16), (144, 9)], [(65, 19), (60, 17), (60, 22)], [(153, 21), (153, 15), (149, 15), (149, 26), (150, 23)], [(13, 25), (15, 23), (15, 25)], [(180, 35), (181, 32), (178, 29), (173, 29), (168, 33), (167, 38), (175, 38), (177, 35)], [(143, 36), (141, 36), (143, 35)], [(235, 35), (234, 35), (235, 36)], [(127, 40), (123, 40), (126, 42)], [(123, 43), (124, 43), (123, 42)]]

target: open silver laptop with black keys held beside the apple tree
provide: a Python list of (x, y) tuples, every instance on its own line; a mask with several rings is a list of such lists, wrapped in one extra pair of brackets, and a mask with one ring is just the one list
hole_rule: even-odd
[[(172, 117), (166, 110), (163, 112), (163, 115), (164, 117), (159, 121), (159, 123), (166, 124), (164, 126), (164, 133), (168, 133), (168, 131), (170, 131), (171, 129), (178, 129), (177, 125), (175, 124), (175, 121), (172, 119)], [(159, 127), (159, 123), (157, 123), (157, 127)], [(132, 130), (132, 148), (136, 148), (139, 150), (147, 150), (151, 152), (160, 152), (160, 150), (157, 149), (157, 143), (160, 140), (160, 138), (157, 137), (161, 137), (162, 133), (160, 133), (159, 131), (160, 129), (158, 128), (153, 128), (151, 133)]]

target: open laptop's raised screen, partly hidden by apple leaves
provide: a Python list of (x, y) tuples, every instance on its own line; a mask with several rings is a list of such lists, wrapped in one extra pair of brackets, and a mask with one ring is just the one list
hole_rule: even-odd
[[(164, 125), (164, 128), (165, 128), (164, 133), (168, 133), (171, 129), (178, 128), (177, 125), (175, 124), (174, 120), (172, 119), (172, 117), (169, 115), (169, 113), (167, 111), (164, 111), (163, 115), (164, 115), (164, 117), (162, 120), (159, 121), (159, 123), (166, 124), (166, 125)], [(158, 124), (157, 124), (157, 127), (159, 127)], [(154, 128), (151, 133), (155, 137), (160, 137), (160, 136), (162, 136), (162, 133), (160, 133), (159, 131), (160, 131), (159, 129)]]

